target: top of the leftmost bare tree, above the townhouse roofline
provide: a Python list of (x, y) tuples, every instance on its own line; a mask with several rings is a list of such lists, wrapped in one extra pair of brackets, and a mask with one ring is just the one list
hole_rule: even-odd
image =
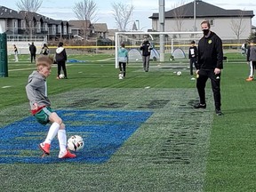
[(16, 5), (20, 11), (37, 12), (43, 0), (20, 0)]

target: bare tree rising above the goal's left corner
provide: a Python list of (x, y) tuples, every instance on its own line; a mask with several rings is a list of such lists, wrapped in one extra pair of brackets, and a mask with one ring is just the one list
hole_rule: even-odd
[(116, 20), (117, 28), (125, 31), (134, 10), (133, 5), (123, 3), (113, 3), (113, 15)]

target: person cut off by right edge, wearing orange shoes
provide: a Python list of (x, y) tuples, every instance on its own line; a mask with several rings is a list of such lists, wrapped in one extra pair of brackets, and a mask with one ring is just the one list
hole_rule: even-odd
[(250, 42), (250, 46), (248, 47), (247, 52), (247, 62), (249, 64), (250, 72), (249, 77), (246, 79), (246, 81), (253, 81), (254, 78), (254, 70), (256, 67), (256, 47), (255, 47), (256, 40), (252, 40)]

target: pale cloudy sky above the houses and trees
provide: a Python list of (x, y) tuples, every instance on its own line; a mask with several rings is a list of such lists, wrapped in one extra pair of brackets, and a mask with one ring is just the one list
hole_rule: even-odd
[[(76, 15), (73, 12), (75, 3), (82, 0), (44, 0), (38, 13), (50, 17), (54, 20), (76, 20)], [(180, 2), (188, 4), (192, 2), (185, 0), (165, 0), (165, 12), (180, 5)], [(6, 6), (18, 11), (16, 3), (20, 0), (0, 0), (0, 5)], [(140, 20), (140, 29), (147, 30), (151, 28), (151, 20), (148, 19), (153, 12), (158, 12), (158, 0), (94, 0), (97, 4), (98, 14), (97, 22), (107, 23), (109, 28), (116, 28), (116, 21), (112, 15), (112, 4), (122, 2), (124, 4), (132, 4), (134, 12), (132, 20)], [(204, 0), (208, 4), (219, 6), (223, 9), (240, 9), (245, 11), (253, 11), (256, 14), (256, 1), (252, 0)], [(132, 29), (132, 20), (131, 28)], [(138, 24), (138, 21), (136, 22)], [(252, 18), (252, 25), (256, 26), (256, 16)]]

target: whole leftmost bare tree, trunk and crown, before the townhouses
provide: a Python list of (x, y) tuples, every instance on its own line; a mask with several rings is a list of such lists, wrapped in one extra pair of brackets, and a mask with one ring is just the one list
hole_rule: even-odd
[(33, 34), (33, 30), (35, 28), (35, 23), (33, 21), (32, 12), (37, 12), (37, 10), (41, 7), (43, 0), (20, 0), (16, 5), (19, 11), (22, 11), (23, 17), (26, 23), (26, 33)]

